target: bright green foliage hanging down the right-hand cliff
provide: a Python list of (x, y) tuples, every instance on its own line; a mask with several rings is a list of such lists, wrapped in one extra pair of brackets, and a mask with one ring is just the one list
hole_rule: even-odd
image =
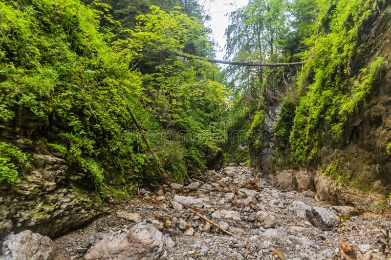
[[(349, 77), (358, 30), (372, 13), (376, 2), (337, 2), (331, 13), (325, 13), (331, 5), (322, 5), (319, 22), (326, 22), (327, 17), (327, 26), (325, 24), (323, 31), (306, 40), (311, 50), (302, 55), (308, 59), (304, 75), (311, 78), (312, 83), (299, 100), (290, 135), (292, 161), (296, 166), (313, 161), (322, 136), (341, 141), (348, 119), (365, 102), (383, 63), (383, 58), (377, 58), (363, 67), (357, 77)], [(303, 81), (303, 90), (304, 87)], [(326, 125), (325, 132), (321, 124)]]

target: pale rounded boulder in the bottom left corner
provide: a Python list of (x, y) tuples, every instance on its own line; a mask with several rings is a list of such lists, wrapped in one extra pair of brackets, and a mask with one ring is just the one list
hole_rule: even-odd
[(53, 255), (53, 241), (26, 230), (8, 241), (8, 249), (15, 260), (50, 260)]

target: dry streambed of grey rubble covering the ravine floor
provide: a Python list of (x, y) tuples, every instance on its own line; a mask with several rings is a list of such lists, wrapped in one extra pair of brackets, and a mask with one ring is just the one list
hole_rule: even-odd
[[(136, 250), (145, 259), (333, 259), (348, 254), (349, 245), (357, 259), (391, 257), (386, 246), (391, 222), (371, 214), (356, 215), (351, 207), (329, 209), (314, 192), (282, 192), (268, 180), (254, 179), (246, 166), (227, 166), (220, 172), (207, 171), (203, 180), (191, 180), (187, 186), (172, 183), (155, 193), (140, 190), (138, 198), (117, 212), (55, 240), (56, 259), (95, 259), (97, 254), (101, 259), (133, 259), (129, 254), (134, 252), (121, 245), (129, 241), (139, 246), (127, 235), (136, 231), (145, 235)], [(149, 223), (162, 233), (154, 228), (143, 233)], [(110, 246), (116, 250), (110, 251)], [(344, 246), (348, 248), (340, 252)]]

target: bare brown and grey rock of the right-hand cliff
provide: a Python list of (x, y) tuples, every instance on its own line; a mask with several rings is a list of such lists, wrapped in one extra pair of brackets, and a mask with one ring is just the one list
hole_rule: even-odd
[[(320, 199), (331, 203), (375, 210), (373, 205), (376, 201), (391, 191), (391, 155), (386, 148), (391, 142), (390, 3), (375, 10), (358, 32), (356, 52), (349, 61), (351, 77), (358, 75), (360, 68), (377, 57), (385, 59), (385, 69), (381, 77), (372, 83), (371, 93), (364, 105), (348, 119), (342, 134), (343, 141), (335, 143), (327, 134), (321, 135), (317, 160), (308, 169), (295, 169), (289, 160), (289, 143), (276, 141), (272, 130), (274, 125), (265, 122), (261, 132), (270, 141), (262, 142), (261, 152), (253, 148), (251, 156), (254, 166), (264, 175), (271, 174), (276, 185), (282, 189), (315, 190)], [(278, 117), (280, 112), (273, 112), (273, 107), (265, 109), (264, 120)], [(267, 116), (270, 112), (274, 115)], [(320, 124), (319, 131), (326, 133), (327, 130)], [(278, 147), (286, 149), (281, 151)], [(274, 158), (274, 161), (270, 158)], [(272, 165), (272, 168), (268, 165)], [(350, 180), (355, 181), (354, 186), (359, 188), (348, 187), (323, 176), (322, 171), (330, 165), (339, 173), (350, 176)], [(364, 193), (363, 188), (380, 193)]]

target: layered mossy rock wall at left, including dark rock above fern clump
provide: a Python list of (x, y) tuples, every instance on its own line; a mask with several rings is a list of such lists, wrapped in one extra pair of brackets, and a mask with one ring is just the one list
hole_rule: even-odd
[(54, 238), (101, 213), (90, 174), (45, 150), (42, 134), (39, 120), (26, 111), (0, 123), (0, 141), (15, 144), (32, 160), (19, 183), (0, 184), (0, 238), (26, 229)]

